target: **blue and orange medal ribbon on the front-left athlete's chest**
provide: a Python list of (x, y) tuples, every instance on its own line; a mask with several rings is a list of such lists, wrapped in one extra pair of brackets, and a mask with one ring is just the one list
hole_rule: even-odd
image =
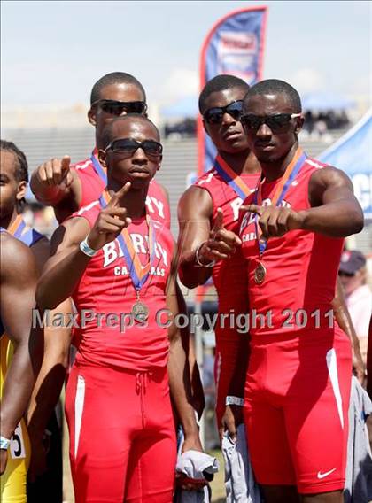
[[(99, 202), (103, 208), (108, 204), (111, 197), (110, 194), (105, 190), (102, 193), (102, 196), (99, 198)], [(146, 221), (149, 227), (149, 262), (143, 266), (141, 264), (141, 260), (139, 259), (135, 247), (133, 246), (132, 240), (128, 233), (128, 228), (123, 228), (120, 235), (117, 236), (117, 240), (120, 246), (120, 250), (123, 252), (125, 259), (127, 260), (129, 266), (129, 275), (135, 286), (136, 293), (139, 294), (139, 291), (143, 287), (143, 284), (147, 281), (147, 278), (150, 275), (151, 265), (153, 263), (154, 255), (155, 255), (155, 244), (156, 244), (156, 236), (155, 236), (155, 228), (152, 224), (151, 218), (148, 214), (146, 214)]]

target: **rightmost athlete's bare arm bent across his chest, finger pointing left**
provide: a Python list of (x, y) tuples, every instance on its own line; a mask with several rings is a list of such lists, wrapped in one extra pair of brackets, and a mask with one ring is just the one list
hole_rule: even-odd
[(312, 174), (308, 188), (309, 210), (247, 205), (242, 211), (260, 216), (262, 236), (283, 236), (289, 230), (302, 228), (329, 237), (345, 237), (363, 228), (363, 212), (353, 194), (353, 184), (345, 173), (327, 166)]

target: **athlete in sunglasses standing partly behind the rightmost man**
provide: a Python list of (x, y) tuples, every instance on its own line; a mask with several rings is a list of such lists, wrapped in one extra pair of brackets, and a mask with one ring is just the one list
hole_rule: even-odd
[[(246, 278), (236, 268), (236, 256), (233, 254), (229, 260), (219, 260), (214, 265), (212, 260), (224, 258), (227, 251), (236, 248), (239, 242), (239, 206), (254, 190), (260, 176), (260, 166), (249, 151), (239, 121), (243, 98), (248, 89), (249, 86), (244, 81), (233, 75), (218, 75), (206, 83), (199, 97), (199, 109), (203, 114), (205, 131), (217, 147), (218, 156), (214, 166), (183, 194), (178, 210), (179, 244), (182, 251), (181, 281), (193, 288), (205, 283), (212, 275), (218, 292), (220, 316), (229, 313), (232, 304), (236, 309), (235, 314), (240, 311), (245, 313), (247, 309), (242, 295), (246, 291)], [(213, 240), (216, 232), (219, 234)], [(221, 244), (221, 235), (229, 244)], [(198, 261), (205, 267), (200, 267)], [(243, 417), (238, 417), (241, 416), (238, 414), (241, 407), (232, 407), (235, 409), (236, 422), (230, 414), (230, 406), (223, 425), (222, 416), (234, 373), (236, 353), (240, 351), (242, 360), (246, 360), (247, 344), (242, 348), (240, 343), (244, 342), (244, 336), (239, 336), (236, 329), (229, 326), (228, 321), (224, 327), (217, 323), (215, 333), (217, 424), (221, 431), (229, 429), (231, 437), (235, 437), (236, 426), (243, 421)]]

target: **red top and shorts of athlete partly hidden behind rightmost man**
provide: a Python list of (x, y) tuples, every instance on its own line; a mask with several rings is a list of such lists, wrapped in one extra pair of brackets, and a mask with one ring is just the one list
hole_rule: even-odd
[[(217, 162), (221, 162), (218, 156)], [(257, 185), (260, 173), (242, 174), (240, 178), (252, 191)], [(213, 227), (217, 209), (223, 210), (223, 225), (228, 230), (238, 234), (237, 220), (239, 208), (243, 199), (236, 194), (236, 191), (222, 178), (215, 167), (201, 176), (196, 185), (201, 189), (207, 190), (212, 198), (213, 216), (211, 219), (211, 228)], [(236, 313), (246, 313), (247, 305), (244, 299), (246, 292), (246, 277), (242, 271), (236, 267), (240, 263), (236, 256), (229, 260), (220, 260), (213, 267), (213, 282), (218, 293), (219, 320), (221, 314), (228, 314), (231, 306), (234, 306)], [(221, 423), (221, 417), (225, 410), (226, 396), (229, 391), (229, 383), (235, 370), (236, 353), (238, 343), (241, 337), (246, 337), (236, 331), (234, 326), (230, 326), (227, 320), (225, 327), (218, 322), (215, 327), (216, 335), (216, 355), (214, 362), (214, 376), (216, 382), (216, 414), (218, 424)]]

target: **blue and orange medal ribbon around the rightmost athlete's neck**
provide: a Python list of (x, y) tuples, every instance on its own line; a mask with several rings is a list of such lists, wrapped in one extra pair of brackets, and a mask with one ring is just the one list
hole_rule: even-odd
[[(298, 172), (301, 169), (302, 165), (304, 164), (306, 158), (307, 158), (306, 153), (298, 147), (290, 164), (285, 168), (285, 172), (283, 174), (282, 180), (278, 183), (278, 185), (275, 189), (274, 196), (271, 199), (271, 204), (273, 206), (281, 205), (285, 194), (287, 193), (287, 191), (291, 187), (291, 183), (294, 181), (294, 179), (298, 175)], [(260, 181), (258, 183), (258, 187), (257, 187), (256, 192), (254, 194), (254, 204), (255, 205), (259, 205), (259, 206), (262, 205), (262, 183), (263, 182), (264, 181), (262, 181), (262, 182)], [(261, 239), (262, 230), (258, 224), (258, 221), (259, 221), (259, 215), (256, 215), (256, 218), (254, 219), (254, 225), (256, 228), (256, 236), (258, 236), (258, 239), (259, 239), (260, 256), (262, 256), (262, 253), (267, 249), (267, 240)]]

